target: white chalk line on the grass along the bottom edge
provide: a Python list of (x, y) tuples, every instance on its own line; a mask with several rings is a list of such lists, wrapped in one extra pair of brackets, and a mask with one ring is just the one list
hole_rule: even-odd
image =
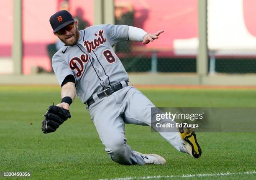
[(157, 175), (157, 176), (147, 176), (147, 177), (116, 177), (114, 179), (100, 179), (100, 180), (145, 180), (145, 179), (159, 179), (159, 178), (182, 178), (182, 177), (208, 177), (208, 176), (228, 176), (228, 175), (244, 175), (244, 174), (256, 174), (256, 171), (248, 172), (226, 172), (226, 173), (217, 173), (217, 174), (194, 174), (194, 175)]

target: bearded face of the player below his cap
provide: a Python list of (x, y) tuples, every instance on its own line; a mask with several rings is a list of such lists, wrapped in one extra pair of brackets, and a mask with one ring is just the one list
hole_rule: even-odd
[[(65, 28), (65, 27), (64, 27)], [(58, 35), (54, 33), (65, 45), (73, 46), (77, 43), (79, 39), (79, 31), (77, 27), (77, 21), (74, 22), (74, 28), (71, 30), (65, 30), (65, 33), (62, 35)]]

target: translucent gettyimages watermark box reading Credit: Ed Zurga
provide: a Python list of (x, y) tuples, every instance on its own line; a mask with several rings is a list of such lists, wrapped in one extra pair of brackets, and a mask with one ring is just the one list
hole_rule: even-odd
[(256, 132), (256, 108), (151, 108), (152, 132)]

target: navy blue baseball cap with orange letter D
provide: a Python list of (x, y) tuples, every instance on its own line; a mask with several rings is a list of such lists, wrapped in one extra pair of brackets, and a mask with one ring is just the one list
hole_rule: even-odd
[(71, 23), (74, 23), (74, 18), (67, 10), (61, 10), (52, 15), (50, 18), (50, 24), (54, 30), (54, 33)]

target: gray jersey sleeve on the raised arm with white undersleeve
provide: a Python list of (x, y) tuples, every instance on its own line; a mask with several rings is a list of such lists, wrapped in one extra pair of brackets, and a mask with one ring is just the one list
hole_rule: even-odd
[(108, 41), (113, 46), (120, 41), (127, 41), (128, 36), (128, 25), (105, 25), (104, 30), (108, 35)]

